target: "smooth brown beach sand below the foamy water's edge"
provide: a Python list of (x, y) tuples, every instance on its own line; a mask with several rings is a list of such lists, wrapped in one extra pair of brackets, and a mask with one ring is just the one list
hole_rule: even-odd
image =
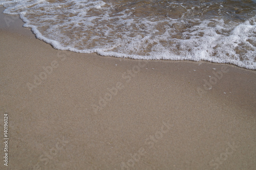
[(6, 17), (0, 169), (255, 169), (256, 71), (58, 51)]

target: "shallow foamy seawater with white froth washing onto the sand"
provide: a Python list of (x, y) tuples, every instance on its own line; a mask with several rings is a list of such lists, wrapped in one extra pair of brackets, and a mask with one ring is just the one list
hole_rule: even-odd
[(256, 0), (0, 0), (59, 50), (256, 69)]

